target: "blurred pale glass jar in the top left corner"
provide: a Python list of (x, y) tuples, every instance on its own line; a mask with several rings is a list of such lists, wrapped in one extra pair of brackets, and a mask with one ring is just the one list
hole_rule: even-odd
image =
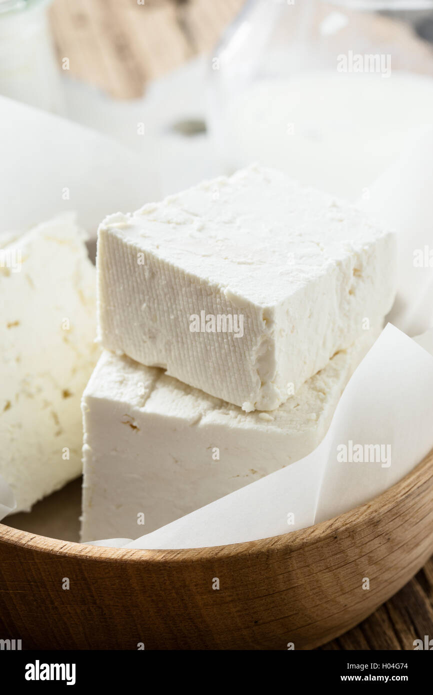
[(62, 111), (60, 76), (49, 33), (50, 0), (0, 0), (0, 94)]

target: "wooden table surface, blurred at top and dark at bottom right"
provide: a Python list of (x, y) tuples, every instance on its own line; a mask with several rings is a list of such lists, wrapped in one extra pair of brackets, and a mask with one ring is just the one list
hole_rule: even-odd
[[(70, 58), (73, 76), (116, 99), (130, 99), (142, 95), (149, 80), (211, 51), (242, 5), (243, 0), (55, 0), (51, 22), (58, 54)], [(411, 649), (424, 635), (433, 638), (433, 559), (370, 618), (322, 649)]]

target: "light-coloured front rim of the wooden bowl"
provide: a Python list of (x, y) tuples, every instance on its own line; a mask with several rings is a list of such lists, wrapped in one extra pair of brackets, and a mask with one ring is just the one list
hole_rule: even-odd
[[(429, 468), (431, 469), (429, 471)], [(430, 475), (426, 475), (430, 473)], [(240, 555), (256, 555), (270, 550), (289, 548), (295, 551), (301, 546), (306, 548), (318, 542), (332, 541), (336, 533), (350, 532), (366, 520), (370, 523), (379, 521), (391, 507), (402, 500), (408, 493), (414, 493), (429, 477), (433, 477), (433, 450), (413, 471), (389, 489), (359, 507), (340, 514), (328, 521), (322, 521), (308, 528), (291, 531), (279, 536), (271, 536), (257, 541), (243, 541), (227, 546), (210, 546), (207, 548), (181, 548), (170, 550), (144, 550), (141, 548), (108, 548), (105, 546), (90, 546), (86, 543), (61, 541), (27, 531), (20, 531), (10, 526), (0, 524), (0, 541), (14, 546), (26, 547), (41, 553), (52, 553), (62, 557), (80, 557), (85, 560), (104, 562), (202, 562), (206, 559), (227, 559)]]

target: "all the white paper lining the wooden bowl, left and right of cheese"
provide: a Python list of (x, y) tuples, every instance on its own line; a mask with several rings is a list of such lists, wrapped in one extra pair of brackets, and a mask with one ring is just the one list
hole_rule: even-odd
[[(72, 191), (67, 205), (78, 210), (79, 222), (88, 229), (106, 213), (137, 208), (152, 197), (146, 188), (149, 174), (142, 174), (145, 163), (99, 133), (1, 97), (0, 106), (8, 123), (7, 137), (5, 131), (0, 135), (7, 155), (0, 164), (0, 231), (21, 231), (54, 216), (63, 205), (63, 187)], [(38, 138), (36, 144), (34, 138)], [(399, 328), (409, 331), (416, 325), (424, 331), (433, 320), (432, 271), (413, 272), (408, 261), (414, 248), (433, 246), (432, 161), (430, 129), (402, 155), (396, 169), (385, 172), (371, 187), (370, 213), (396, 227), (400, 238), (401, 282), (393, 312), (398, 327), (388, 325), (357, 368), (318, 448), (295, 464), (135, 541), (108, 539), (95, 545), (218, 546), (305, 528), (374, 498), (425, 457), (433, 447), (433, 331), (416, 342)], [(88, 181), (92, 187), (86, 193)], [(74, 191), (79, 192), (75, 199)], [(22, 195), (26, 206), (21, 204)], [(357, 445), (363, 452), (365, 447), (368, 452), (379, 447), (383, 460), (380, 456), (375, 461), (355, 460), (359, 459)], [(338, 460), (345, 452), (348, 460)], [(10, 487), (0, 480), (0, 519), (13, 512), (14, 504)]]

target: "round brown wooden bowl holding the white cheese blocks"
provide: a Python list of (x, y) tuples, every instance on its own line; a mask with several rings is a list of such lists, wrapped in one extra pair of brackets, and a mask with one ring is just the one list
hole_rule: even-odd
[(425, 564), (432, 500), (430, 452), (373, 502), (261, 541), (118, 550), (0, 525), (0, 637), (42, 649), (311, 649)]

